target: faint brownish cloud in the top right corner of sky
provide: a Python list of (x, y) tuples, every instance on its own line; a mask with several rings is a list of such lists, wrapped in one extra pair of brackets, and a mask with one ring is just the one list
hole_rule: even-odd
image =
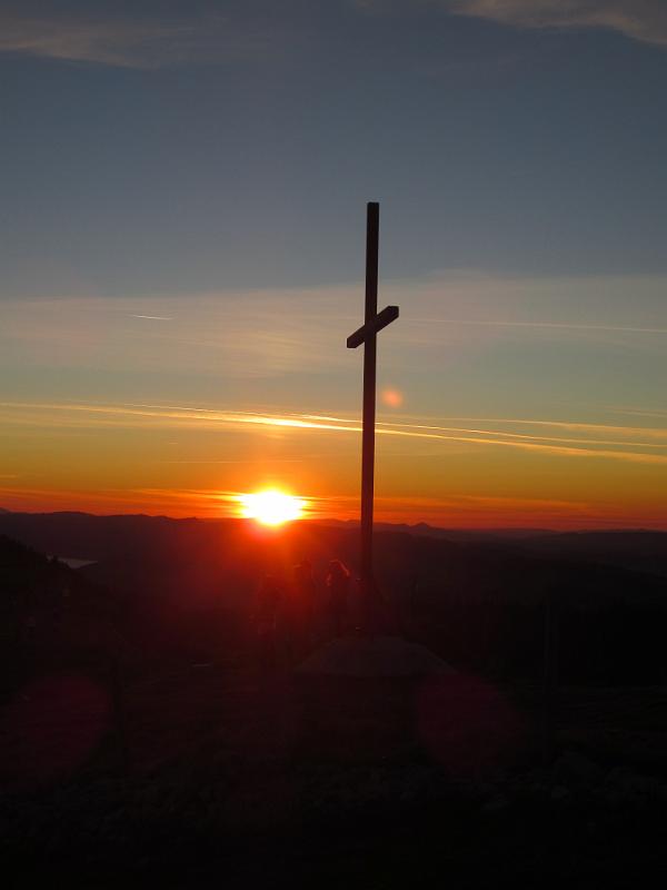
[(607, 28), (667, 47), (664, 0), (446, 0), (446, 7), (520, 28)]

